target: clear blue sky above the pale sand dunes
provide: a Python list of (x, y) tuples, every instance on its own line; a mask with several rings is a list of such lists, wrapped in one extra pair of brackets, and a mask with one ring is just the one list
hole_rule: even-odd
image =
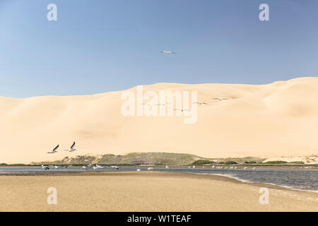
[(0, 0), (0, 96), (317, 76), (317, 21), (316, 0)]

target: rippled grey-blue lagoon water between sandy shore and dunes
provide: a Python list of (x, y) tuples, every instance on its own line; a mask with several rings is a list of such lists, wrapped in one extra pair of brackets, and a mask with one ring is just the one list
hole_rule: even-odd
[[(112, 167), (105, 167), (104, 169), (83, 169), (82, 167), (69, 167), (45, 170), (42, 167), (0, 167), (0, 176), (27, 176), (39, 174), (63, 174), (76, 172), (105, 172), (105, 171), (146, 171), (148, 167), (119, 167), (119, 170)], [(306, 191), (318, 192), (318, 168), (270, 168), (270, 167), (237, 167), (237, 169), (211, 169), (211, 167), (153, 167), (153, 171), (165, 172), (187, 172), (193, 174), (213, 174), (225, 177), (235, 178), (247, 183), (264, 183), (284, 186), (288, 189), (299, 189)]]

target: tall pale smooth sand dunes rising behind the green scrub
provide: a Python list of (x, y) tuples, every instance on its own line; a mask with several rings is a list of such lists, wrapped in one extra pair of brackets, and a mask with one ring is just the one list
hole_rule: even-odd
[[(130, 89), (136, 92), (136, 88)], [(146, 90), (197, 91), (195, 124), (184, 117), (124, 117), (122, 92), (0, 97), (0, 162), (85, 154), (192, 153), (202, 157), (318, 155), (318, 78), (266, 85), (158, 83)], [(223, 97), (229, 100), (213, 100)], [(146, 102), (146, 100), (144, 100)], [(137, 107), (137, 106), (136, 106)], [(77, 151), (66, 153), (76, 141)], [(57, 144), (56, 154), (47, 154)]]

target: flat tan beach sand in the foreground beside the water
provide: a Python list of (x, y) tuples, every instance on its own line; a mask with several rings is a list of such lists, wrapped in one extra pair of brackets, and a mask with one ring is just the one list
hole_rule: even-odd
[[(57, 189), (57, 205), (47, 189)], [(259, 189), (269, 189), (269, 205)], [(220, 176), (84, 172), (0, 177), (0, 211), (318, 211), (318, 194)]]

